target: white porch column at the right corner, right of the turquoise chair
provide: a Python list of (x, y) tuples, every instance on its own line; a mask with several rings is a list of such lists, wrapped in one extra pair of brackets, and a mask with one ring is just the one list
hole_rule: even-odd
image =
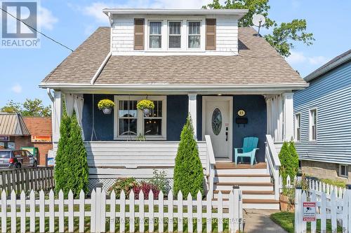
[(284, 98), (284, 140), (290, 141), (293, 137), (293, 92), (283, 94)]

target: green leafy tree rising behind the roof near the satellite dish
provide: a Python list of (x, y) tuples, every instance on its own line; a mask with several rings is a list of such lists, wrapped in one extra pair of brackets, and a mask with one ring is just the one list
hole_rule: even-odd
[(252, 17), (254, 14), (262, 14), (265, 16), (265, 28), (272, 28), (272, 34), (265, 35), (265, 39), (272, 45), (277, 52), (283, 57), (289, 57), (290, 50), (294, 48), (294, 42), (300, 41), (305, 45), (312, 45), (314, 41), (313, 34), (307, 33), (306, 20), (292, 20), (291, 22), (282, 22), (277, 24), (274, 20), (268, 17), (270, 10), (269, 0), (227, 0), (224, 5), (221, 5), (219, 0), (213, 0), (203, 8), (210, 9), (248, 9), (244, 17), (239, 21), (239, 27), (253, 26)]

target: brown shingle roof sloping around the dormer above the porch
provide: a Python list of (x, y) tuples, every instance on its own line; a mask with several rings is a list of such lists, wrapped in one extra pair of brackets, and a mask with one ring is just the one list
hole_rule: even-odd
[(95, 83), (91, 78), (110, 52), (110, 27), (98, 28), (42, 81), (41, 87), (81, 85), (290, 85), (305, 86), (298, 73), (251, 28), (239, 28), (239, 55), (112, 55)]

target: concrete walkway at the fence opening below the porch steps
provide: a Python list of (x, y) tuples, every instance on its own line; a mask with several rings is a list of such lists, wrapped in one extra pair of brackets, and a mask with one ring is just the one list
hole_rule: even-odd
[(261, 209), (245, 209), (244, 210), (244, 232), (262, 232), (262, 233), (286, 233), (286, 231), (275, 224), (270, 215), (276, 213), (274, 210), (261, 210)]

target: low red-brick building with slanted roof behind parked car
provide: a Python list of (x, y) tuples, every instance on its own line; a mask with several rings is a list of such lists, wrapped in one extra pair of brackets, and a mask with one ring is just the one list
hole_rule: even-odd
[(20, 150), (38, 148), (38, 165), (46, 165), (48, 150), (53, 149), (51, 118), (22, 117), (17, 113), (0, 113), (0, 148)]

